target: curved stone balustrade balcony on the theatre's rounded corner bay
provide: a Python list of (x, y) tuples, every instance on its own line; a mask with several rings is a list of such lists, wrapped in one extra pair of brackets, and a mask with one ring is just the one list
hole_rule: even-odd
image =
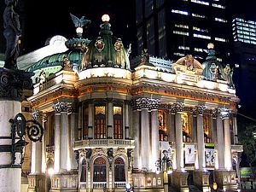
[(80, 148), (134, 148), (134, 140), (129, 139), (86, 139), (76, 141), (74, 150)]

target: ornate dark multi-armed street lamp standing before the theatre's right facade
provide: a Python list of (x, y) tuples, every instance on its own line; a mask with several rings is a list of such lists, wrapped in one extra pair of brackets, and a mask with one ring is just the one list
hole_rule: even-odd
[(164, 172), (164, 191), (168, 192), (168, 174), (172, 173), (172, 160), (168, 157), (168, 151), (163, 150), (164, 157), (156, 160), (157, 173)]

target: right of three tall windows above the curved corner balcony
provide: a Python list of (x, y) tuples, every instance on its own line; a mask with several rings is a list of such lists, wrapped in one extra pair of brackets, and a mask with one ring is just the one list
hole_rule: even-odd
[(113, 138), (123, 138), (123, 113), (121, 107), (113, 107)]

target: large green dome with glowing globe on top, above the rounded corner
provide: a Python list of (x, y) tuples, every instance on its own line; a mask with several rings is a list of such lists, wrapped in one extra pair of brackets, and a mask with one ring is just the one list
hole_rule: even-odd
[(130, 70), (129, 50), (126, 51), (121, 38), (115, 38), (108, 20), (101, 25), (99, 36), (88, 44), (83, 55), (81, 69), (93, 67), (119, 67)]

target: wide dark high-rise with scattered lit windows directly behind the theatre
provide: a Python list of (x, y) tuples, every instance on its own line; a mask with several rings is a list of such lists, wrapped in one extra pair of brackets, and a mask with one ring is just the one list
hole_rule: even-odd
[(218, 61), (230, 53), (230, 22), (225, 0), (137, 0), (137, 52), (177, 60), (194, 55), (202, 61), (212, 42)]

